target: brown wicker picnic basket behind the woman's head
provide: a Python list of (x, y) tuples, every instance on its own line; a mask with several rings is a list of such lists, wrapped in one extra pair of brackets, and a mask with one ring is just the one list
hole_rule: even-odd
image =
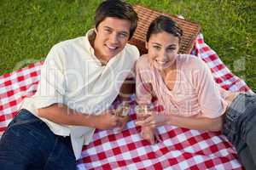
[(145, 48), (145, 42), (148, 26), (151, 21), (153, 21), (160, 14), (171, 17), (172, 20), (175, 20), (179, 24), (179, 26), (182, 27), (183, 37), (181, 40), (181, 47), (179, 48), (178, 53), (190, 54), (195, 42), (195, 38), (201, 30), (199, 24), (177, 18), (176, 16), (173, 16), (171, 14), (164, 14), (150, 8), (145, 8), (140, 5), (135, 5), (133, 8), (137, 12), (139, 20), (137, 30), (135, 31), (134, 36), (131, 38), (130, 43), (136, 45), (137, 48), (140, 50), (141, 54), (147, 53), (147, 49)]

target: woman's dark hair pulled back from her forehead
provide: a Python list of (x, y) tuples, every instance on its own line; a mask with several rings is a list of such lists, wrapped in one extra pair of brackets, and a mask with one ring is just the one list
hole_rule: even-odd
[(179, 42), (183, 36), (183, 30), (180, 26), (177, 25), (177, 22), (175, 22), (169, 17), (160, 15), (155, 20), (153, 20), (150, 26), (148, 27), (146, 37), (147, 42), (149, 41), (149, 38), (151, 37), (152, 34), (157, 34), (161, 31), (166, 31), (169, 34), (178, 37)]

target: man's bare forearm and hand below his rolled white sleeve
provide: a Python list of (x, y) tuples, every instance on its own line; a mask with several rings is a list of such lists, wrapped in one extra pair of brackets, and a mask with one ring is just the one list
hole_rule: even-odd
[(38, 109), (38, 116), (51, 122), (65, 125), (96, 127), (108, 129), (117, 126), (119, 118), (109, 113), (99, 116), (79, 113), (67, 107), (67, 105), (54, 104), (49, 107)]

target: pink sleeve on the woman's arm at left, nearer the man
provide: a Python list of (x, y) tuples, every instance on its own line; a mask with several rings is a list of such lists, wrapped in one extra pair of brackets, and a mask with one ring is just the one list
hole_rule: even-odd
[(152, 86), (148, 80), (147, 74), (150, 72), (143, 69), (139, 60), (136, 63), (136, 101), (137, 104), (150, 104), (152, 99)]

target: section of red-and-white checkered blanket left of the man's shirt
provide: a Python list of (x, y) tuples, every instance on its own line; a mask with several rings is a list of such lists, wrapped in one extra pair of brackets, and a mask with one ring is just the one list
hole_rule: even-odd
[(0, 137), (17, 114), (22, 100), (35, 94), (43, 62), (0, 77)]

